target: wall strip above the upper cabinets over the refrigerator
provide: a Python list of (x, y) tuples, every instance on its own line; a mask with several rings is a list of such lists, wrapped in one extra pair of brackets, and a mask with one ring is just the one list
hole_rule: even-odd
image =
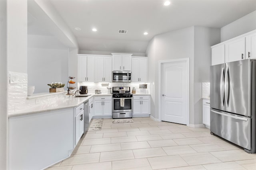
[(256, 11), (222, 27), (221, 42), (256, 29)]

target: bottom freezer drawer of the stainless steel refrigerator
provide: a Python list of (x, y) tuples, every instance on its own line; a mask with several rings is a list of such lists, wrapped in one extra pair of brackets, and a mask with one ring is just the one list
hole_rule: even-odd
[(210, 131), (247, 150), (252, 150), (252, 118), (211, 109)]

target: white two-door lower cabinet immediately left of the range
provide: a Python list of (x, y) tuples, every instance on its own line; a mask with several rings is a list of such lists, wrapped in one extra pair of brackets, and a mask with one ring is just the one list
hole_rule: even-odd
[(112, 115), (112, 97), (95, 96), (94, 97), (94, 116)]

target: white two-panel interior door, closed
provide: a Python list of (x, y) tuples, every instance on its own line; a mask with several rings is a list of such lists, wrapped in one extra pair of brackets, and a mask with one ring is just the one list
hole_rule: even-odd
[(187, 124), (188, 72), (186, 61), (161, 64), (162, 121)]

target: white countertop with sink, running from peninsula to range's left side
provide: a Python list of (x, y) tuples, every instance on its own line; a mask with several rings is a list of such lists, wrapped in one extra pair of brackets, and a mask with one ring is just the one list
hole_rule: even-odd
[(90, 96), (82, 97), (82, 98), (75, 98), (75, 97), (70, 98), (69, 96), (64, 96), (62, 98), (56, 99), (54, 102), (45, 102), (44, 104), (33, 104), (33, 105), (26, 104), (22, 106), (23, 109), (9, 113), (8, 117), (30, 115), (30, 114), (40, 113), (44, 111), (52, 111), (52, 110), (76, 107), (84, 102), (87, 102), (93, 96), (112, 96), (112, 94), (84, 94), (84, 95), (90, 95)]

